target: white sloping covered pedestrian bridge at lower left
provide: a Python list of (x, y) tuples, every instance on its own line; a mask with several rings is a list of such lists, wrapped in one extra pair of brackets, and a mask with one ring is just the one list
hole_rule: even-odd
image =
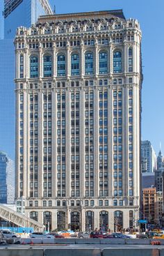
[(28, 218), (21, 213), (17, 213), (17, 211), (13, 211), (3, 204), (0, 204), (0, 218), (3, 218), (3, 220), (9, 221), (10, 223), (14, 223), (19, 227), (33, 227), (33, 229), (38, 232), (44, 230), (44, 225), (42, 223), (38, 223), (36, 220)]

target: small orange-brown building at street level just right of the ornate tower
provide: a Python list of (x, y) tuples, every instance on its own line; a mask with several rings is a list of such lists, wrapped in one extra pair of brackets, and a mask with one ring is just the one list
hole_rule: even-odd
[(148, 223), (156, 223), (156, 188), (144, 188), (142, 190), (143, 208), (142, 214), (143, 218), (148, 220)]

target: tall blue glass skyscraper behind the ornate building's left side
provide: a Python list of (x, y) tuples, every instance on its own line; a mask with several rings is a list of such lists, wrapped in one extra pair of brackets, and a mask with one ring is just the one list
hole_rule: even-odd
[(4, 20), (5, 39), (0, 40), (0, 140), (3, 150), (14, 158), (15, 94), (13, 80), (15, 78), (15, 53), (13, 40), (17, 27), (31, 27), (39, 15), (51, 14), (52, 10), (48, 0), (1, 0), (0, 7), (2, 5), (3, 17), (0, 16), (0, 22)]

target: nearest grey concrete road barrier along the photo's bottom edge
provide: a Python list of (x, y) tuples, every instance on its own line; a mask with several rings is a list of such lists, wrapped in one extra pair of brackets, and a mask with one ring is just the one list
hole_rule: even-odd
[(0, 248), (1, 256), (164, 256), (160, 248)]

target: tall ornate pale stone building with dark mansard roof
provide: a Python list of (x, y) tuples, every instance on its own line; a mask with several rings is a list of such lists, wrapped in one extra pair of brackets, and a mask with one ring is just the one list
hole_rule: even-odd
[(17, 29), (16, 197), (47, 229), (136, 225), (140, 49), (140, 25), (122, 10)]

